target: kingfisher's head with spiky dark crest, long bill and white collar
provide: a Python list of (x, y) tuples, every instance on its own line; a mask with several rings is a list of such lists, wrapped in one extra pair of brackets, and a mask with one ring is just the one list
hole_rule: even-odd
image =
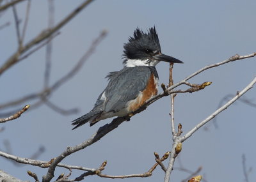
[(168, 63), (183, 63), (172, 56), (161, 53), (156, 28), (152, 27), (148, 33), (137, 28), (133, 36), (129, 37), (129, 42), (124, 44), (124, 66), (156, 66), (159, 61)]

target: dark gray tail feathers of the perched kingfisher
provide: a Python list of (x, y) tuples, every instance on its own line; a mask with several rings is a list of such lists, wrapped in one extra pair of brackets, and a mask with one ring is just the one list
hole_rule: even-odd
[(88, 123), (88, 121), (92, 121), (93, 119), (97, 118), (102, 113), (101, 110), (97, 111), (91, 111), (85, 114), (84, 116), (81, 116), (80, 118), (75, 119), (72, 121), (72, 125), (76, 125), (72, 130), (78, 128), (79, 126), (84, 125), (85, 123)]

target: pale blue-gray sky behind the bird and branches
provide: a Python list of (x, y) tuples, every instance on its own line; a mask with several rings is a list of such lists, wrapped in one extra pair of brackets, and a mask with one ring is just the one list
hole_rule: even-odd
[[(55, 22), (74, 10), (83, 1), (59, 0), (55, 3)], [(49, 107), (26, 112), (16, 121), (2, 124), (0, 148), (3, 140), (12, 144), (13, 154), (29, 157), (39, 146), (45, 146), (40, 160), (50, 160), (67, 146), (81, 143), (99, 126), (111, 121), (106, 119), (92, 127), (84, 125), (71, 130), (70, 121), (92, 109), (97, 96), (107, 84), (108, 72), (122, 69), (122, 50), (127, 38), (136, 27), (146, 31), (156, 26), (164, 54), (184, 61), (175, 65), (174, 80), (177, 82), (196, 70), (218, 63), (234, 54), (246, 55), (256, 51), (256, 1), (103, 1), (95, 0), (54, 39), (51, 83), (60, 79), (74, 66), (102, 29), (108, 36), (100, 43), (95, 54), (84, 64), (81, 71), (51, 96), (52, 102), (65, 109), (77, 107), (79, 113), (62, 116)], [(18, 13), (25, 14), (26, 3), (20, 3)], [(26, 41), (31, 40), (47, 27), (47, 1), (32, 1)], [(10, 21), (11, 26), (0, 30), (0, 64), (17, 49), (17, 38), (11, 9), (1, 16), (0, 25)], [(255, 58), (208, 70), (190, 80), (195, 84), (212, 81), (212, 85), (193, 94), (178, 95), (175, 102), (175, 122), (182, 123), (184, 133), (196, 123), (214, 112), (224, 96), (236, 94), (255, 76)], [(45, 49), (16, 64), (1, 75), (1, 102), (40, 91), (44, 80)], [(168, 64), (157, 65), (159, 83), (168, 82)], [(255, 88), (246, 98), (256, 102)], [(34, 103), (33, 101), (28, 103)], [(19, 106), (23, 107), (27, 103)], [(4, 110), (3, 110), (4, 111)], [(93, 146), (66, 158), (63, 163), (97, 168), (104, 161), (106, 174), (136, 174), (146, 172), (154, 164), (154, 151), (163, 155), (171, 147), (170, 98), (165, 97), (150, 105), (147, 110), (122, 123)], [(253, 167), (250, 181), (255, 180), (255, 108), (236, 102), (218, 116), (218, 129), (211, 124), (208, 131), (201, 128), (183, 144), (179, 155), (182, 165), (191, 171), (202, 166), (208, 181), (244, 181), (242, 154), (248, 167)], [(20, 179), (31, 180), (26, 171), (42, 177), (47, 169), (13, 163), (0, 158), (0, 169)], [(167, 162), (164, 164), (166, 165)], [(178, 161), (175, 167), (179, 167)], [(58, 168), (56, 176), (66, 169)], [(74, 171), (71, 178), (82, 172)], [(188, 174), (173, 171), (173, 181), (181, 181)], [(88, 177), (88, 181), (163, 181), (159, 167), (150, 178), (102, 179)]]

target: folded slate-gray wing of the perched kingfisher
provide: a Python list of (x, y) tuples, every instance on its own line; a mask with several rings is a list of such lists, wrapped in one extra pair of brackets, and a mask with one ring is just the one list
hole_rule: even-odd
[(105, 112), (117, 112), (124, 109), (125, 104), (134, 100), (147, 86), (151, 75), (148, 66), (125, 67), (120, 72), (111, 74), (105, 89)]

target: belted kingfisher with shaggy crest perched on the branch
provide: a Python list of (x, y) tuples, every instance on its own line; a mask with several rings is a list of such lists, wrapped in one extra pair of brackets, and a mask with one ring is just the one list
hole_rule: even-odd
[(90, 112), (72, 121), (72, 125), (76, 125), (72, 130), (87, 122), (92, 126), (102, 119), (123, 117), (138, 110), (148, 99), (157, 95), (156, 64), (159, 61), (183, 63), (161, 53), (155, 27), (151, 27), (148, 33), (143, 33), (137, 27), (129, 42), (124, 44), (123, 57), (124, 68), (106, 76), (108, 86)]

